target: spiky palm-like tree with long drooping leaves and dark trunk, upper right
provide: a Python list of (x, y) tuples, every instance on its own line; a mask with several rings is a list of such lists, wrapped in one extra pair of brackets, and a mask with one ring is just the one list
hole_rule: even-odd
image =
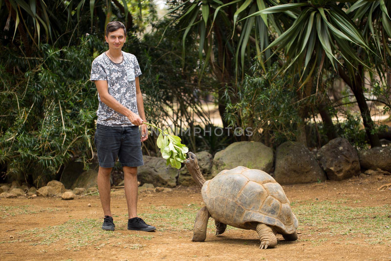
[[(381, 59), (379, 53), (388, 48), (388, 38), (382, 35), (391, 28), (387, 11), (389, 4), (386, 5), (384, 0), (369, 4), (361, 0), (351, 7), (350, 2), (235, 0), (226, 3), (220, 0), (198, 0), (183, 2), (170, 12), (176, 13), (176, 22), (185, 29), (184, 44), (190, 29), (195, 29), (193, 32), (199, 37), (200, 59), (204, 50), (205, 63), (210, 63), (221, 85), (231, 84), (235, 89), (233, 72), (238, 76), (246, 71), (246, 55), (251, 57), (252, 54), (263, 53), (263, 58), (258, 56), (259, 59), (269, 60), (273, 55), (267, 51), (271, 49), (274, 50), (273, 54), (277, 51), (283, 53), (285, 61), (281, 72), (295, 75), (295, 85), (299, 89), (305, 86), (302, 98), (317, 92), (317, 86), (312, 86), (313, 76), (319, 79), (325, 69), (338, 71), (357, 99), (371, 146), (379, 146), (365, 101), (362, 79), (364, 70), (374, 71), (373, 61)], [(350, 11), (347, 12), (348, 9)], [(371, 18), (371, 14), (375, 13)], [(373, 20), (374, 16), (376, 20)], [(379, 21), (380, 16), (382, 19)], [(380, 28), (376, 31), (375, 39), (383, 39), (383, 42), (379, 44), (376, 41), (378, 49), (369, 47), (368, 37), (363, 36), (360, 27), (361, 21), (357, 25), (352, 19), (354, 17), (367, 18), (367, 31), (372, 34), (373, 26), (369, 25), (369, 21), (374, 27)], [(276, 36), (269, 45), (268, 35), (272, 38)], [(223, 101), (219, 109), (222, 114)]]

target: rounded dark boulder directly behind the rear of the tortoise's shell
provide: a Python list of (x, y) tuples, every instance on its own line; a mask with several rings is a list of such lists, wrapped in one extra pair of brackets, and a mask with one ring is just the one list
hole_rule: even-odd
[(326, 180), (315, 157), (300, 142), (287, 141), (278, 146), (274, 179), (280, 184), (298, 184)]

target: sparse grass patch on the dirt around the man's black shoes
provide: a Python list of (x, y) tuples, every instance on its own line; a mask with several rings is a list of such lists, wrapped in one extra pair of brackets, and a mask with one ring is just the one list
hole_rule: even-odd
[[(142, 238), (151, 240), (153, 236), (144, 236), (138, 234), (122, 234), (118, 230), (124, 230), (125, 221), (118, 220), (115, 222), (115, 231), (102, 230), (101, 219), (85, 218), (81, 220), (68, 220), (63, 224), (48, 226), (45, 228), (36, 228), (19, 232), (22, 237), (32, 237), (33, 242), (30, 245), (51, 245), (64, 246), (67, 250), (78, 251), (81, 247), (94, 245), (95, 248), (102, 248), (109, 243), (109, 239), (117, 238)], [(132, 248), (133, 244), (126, 247)], [(140, 246), (136, 246), (140, 248)], [(136, 249), (136, 248), (132, 248)]]

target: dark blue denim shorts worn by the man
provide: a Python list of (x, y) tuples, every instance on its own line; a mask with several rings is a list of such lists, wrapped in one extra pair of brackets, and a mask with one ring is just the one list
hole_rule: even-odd
[(117, 156), (122, 167), (144, 165), (138, 126), (111, 127), (97, 124), (94, 144), (100, 167), (114, 167)]

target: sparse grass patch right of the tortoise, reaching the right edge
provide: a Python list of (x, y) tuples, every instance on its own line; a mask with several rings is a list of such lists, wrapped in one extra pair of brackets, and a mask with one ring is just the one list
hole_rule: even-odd
[[(314, 227), (310, 229), (316, 233), (319, 229), (326, 232), (318, 235), (334, 236), (348, 235), (352, 238), (366, 238), (370, 244), (391, 243), (391, 205), (379, 207), (349, 207), (339, 205), (346, 199), (332, 203), (329, 201), (292, 204), (292, 211), (296, 214), (300, 226)], [(364, 235), (364, 236), (363, 236)]]

